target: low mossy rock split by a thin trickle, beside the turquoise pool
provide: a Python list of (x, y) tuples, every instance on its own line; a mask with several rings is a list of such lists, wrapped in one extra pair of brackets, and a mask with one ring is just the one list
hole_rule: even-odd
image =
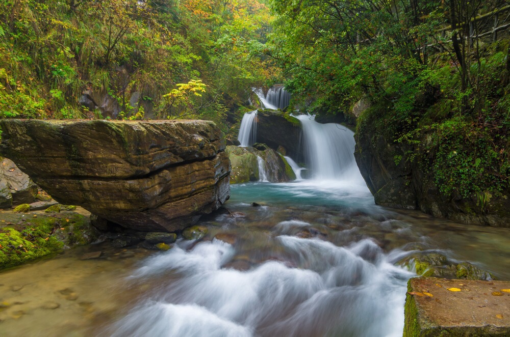
[(232, 184), (261, 180), (258, 157), (263, 160), (267, 181), (287, 182), (296, 179), (287, 160), (271, 148), (258, 150), (252, 147), (227, 146), (226, 153), (232, 163)]

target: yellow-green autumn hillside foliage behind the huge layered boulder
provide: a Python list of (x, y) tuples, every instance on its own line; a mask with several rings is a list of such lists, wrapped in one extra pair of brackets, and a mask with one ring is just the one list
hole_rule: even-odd
[(221, 123), (277, 75), (250, 53), (269, 13), (256, 0), (2, 0), (0, 117), (107, 117), (83, 108), (90, 90), (117, 100), (120, 118), (150, 106)]

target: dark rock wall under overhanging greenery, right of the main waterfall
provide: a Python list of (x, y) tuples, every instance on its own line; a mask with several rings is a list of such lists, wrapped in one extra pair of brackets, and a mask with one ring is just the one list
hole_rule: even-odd
[[(365, 114), (365, 113), (364, 113)], [(435, 182), (430, 154), (392, 141), (377, 125), (383, 118), (367, 111), (358, 120), (354, 156), (377, 205), (419, 209), (436, 217), (494, 227), (510, 227), (508, 191), (482, 207), (476, 196), (443, 195)], [(426, 144), (427, 136), (418, 143)]]

